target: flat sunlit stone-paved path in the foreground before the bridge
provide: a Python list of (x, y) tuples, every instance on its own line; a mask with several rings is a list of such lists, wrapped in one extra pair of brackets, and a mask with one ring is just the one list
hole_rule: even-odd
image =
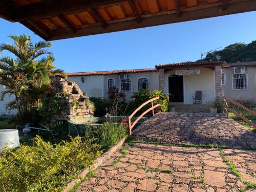
[[(234, 192), (242, 191), (245, 181), (256, 183), (253, 151), (223, 150), (224, 156), (237, 166), (241, 181), (228, 169), (218, 149), (134, 144), (125, 151), (125, 157), (120, 152), (113, 154), (77, 192)], [(118, 162), (111, 165), (115, 160)]]

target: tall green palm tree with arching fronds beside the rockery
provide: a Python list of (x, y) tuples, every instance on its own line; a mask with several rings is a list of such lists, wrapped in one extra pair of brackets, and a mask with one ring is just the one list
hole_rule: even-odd
[(9, 37), (14, 45), (0, 44), (0, 54), (5, 50), (14, 55), (0, 58), (0, 84), (6, 87), (0, 99), (3, 101), (7, 94), (14, 95), (15, 100), (7, 103), (7, 108), (17, 109), (22, 115), (24, 111), (38, 109), (42, 95), (51, 91), (51, 77), (67, 76), (52, 65), (54, 57), (47, 49), (52, 47), (50, 42), (39, 41), (33, 45), (25, 34)]

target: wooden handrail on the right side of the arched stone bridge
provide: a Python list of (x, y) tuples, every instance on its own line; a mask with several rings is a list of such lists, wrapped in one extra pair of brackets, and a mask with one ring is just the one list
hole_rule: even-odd
[(227, 116), (228, 116), (228, 112), (231, 112), (237, 116), (239, 116), (241, 119), (243, 119), (244, 121), (246, 121), (248, 124), (250, 124), (251, 126), (255, 127), (256, 128), (256, 124), (254, 124), (253, 122), (251, 122), (249, 119), (247, 119), (246, 117), (244, 117), (243, 115), (241, 115), (240, 113), (232, 110), (231, 108), (229, 108), (229, 102), (236, 105), (236, 106), (239, 106), (240, 108), (242, 108), (243, 110), (247, 111), (248, 113), (254, 115), (256, 117), (256, 113), (248, 108), (246, 108), (246, 106), (236, 102), (236, 101), (233, 101), (232, 99), (229, 99), (229, 98), (226, 98), (226, 97), (223, 97), (223, 100), (225, 101), (225, 111), (227, 113)]

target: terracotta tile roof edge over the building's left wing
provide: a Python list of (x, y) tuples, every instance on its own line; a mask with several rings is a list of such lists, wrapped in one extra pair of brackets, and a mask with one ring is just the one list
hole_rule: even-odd
[(88, 75), (110, 75), (122, 73), (141, 73), (141, 72), (157, 72), (156, 69), (129, 69), (129, 70), (114, 70), (114, 71), (94, 71), (94, 72), (78, 72), (66, 73), (68, 76), (88, 76)]

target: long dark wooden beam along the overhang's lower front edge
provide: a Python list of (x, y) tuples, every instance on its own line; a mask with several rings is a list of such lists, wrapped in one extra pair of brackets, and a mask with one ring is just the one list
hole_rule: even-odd
[[(204, 7), (204, 9), (196, 9), (195, 7), (182, 9), (181, 17), (177, 17), (175, 10), (169, 11), (169, 14), (160, 15), (159, 13), (157, 13), (155, 16), (141, 15), (141, 18), (143, 19), (143, 22), (141, 23), (137, 23), (136, 20), (128, 18), (129, 20), (122, 20), (122, 22), (108, 22), (108, 27), (105, 29), (103, 29), (100, 25), (90, 25), (90, 27), (78, 26), (76, 33), (69, 33), (68, 29), (52, 30), (50, 40), (110, 33), (170, 23), (186, 22), (188, 20), (255, 11), (256, 1), (241, 1), (239, 3), (229, 3), (228, 9), (222, 12), (220, 12), (220, 7), (221, 3), (210, 4), (207, 7)], [(243, 8), (242, 10), (241, 7)]]

